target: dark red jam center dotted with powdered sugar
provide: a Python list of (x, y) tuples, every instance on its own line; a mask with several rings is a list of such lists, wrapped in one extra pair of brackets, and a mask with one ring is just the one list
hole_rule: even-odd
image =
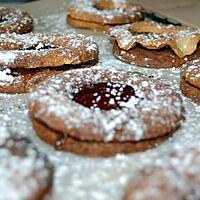
[(88, 108), (101, 110), (121, 109), (135, 95), (134, 89), (121, 83), (96, 83), (85, 85), (73, 93), (73, 100)]

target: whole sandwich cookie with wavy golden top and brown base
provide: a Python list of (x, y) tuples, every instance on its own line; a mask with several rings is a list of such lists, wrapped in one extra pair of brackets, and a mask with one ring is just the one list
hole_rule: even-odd
[(181, 67), (200, 56), (198, 29), (143, 21), (114, 27), (109, 35), (113, 54), (136, 66)]

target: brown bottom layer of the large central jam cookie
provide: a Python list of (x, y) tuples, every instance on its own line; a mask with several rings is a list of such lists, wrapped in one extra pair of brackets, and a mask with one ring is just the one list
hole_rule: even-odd
[(34, 118), (32, 118), (32, 123), (37, 135), (55, 149), (87, 156), (107, 157), (117, 153), (144, 151), (161, 144), (169, 137), (167, 135), (139, 142), (91, 142), (73, 138), (70, 135), (64, 138), (62, 133), (47, 127)]

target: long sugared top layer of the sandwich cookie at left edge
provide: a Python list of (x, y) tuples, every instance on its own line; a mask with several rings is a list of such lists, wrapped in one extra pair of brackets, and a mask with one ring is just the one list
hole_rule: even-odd
[(81, 34), (0, 35), (0, 67), (57, 67), (81, 64), (97, 58), (96, 43)]

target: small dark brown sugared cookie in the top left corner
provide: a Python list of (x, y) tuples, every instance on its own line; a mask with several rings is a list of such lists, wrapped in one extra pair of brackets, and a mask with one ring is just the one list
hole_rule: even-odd
[(0, 33), (27, 33), (33, 29), (33, 19), (27, 12), (0, 7)]

